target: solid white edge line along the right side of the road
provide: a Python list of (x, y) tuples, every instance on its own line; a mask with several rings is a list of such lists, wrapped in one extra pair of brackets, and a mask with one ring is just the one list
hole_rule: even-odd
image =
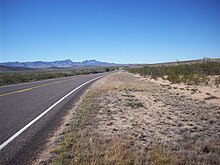
[(6, 145), (8, 145), (10, 142), (12, 142), (16, 137), (18, 137), (22, 132), (24, 132), (26, 129), (28, 129), (32, 124), (34, 124), (36, 121), (38, 121), (41, 117), (43, 117), (47, 112), (49, 112), (52, 108), (54, 108), (57, 104), (59, 104), (61, 101), (63, 101), (65, 98), (67, 98), (69, 95), (71, 95), (73, 92), (75, 92), (76, 90), (78, 90), (79, 88), (85, 86), (86, 84), (95, 81), (103, 76), (99, 76), (97, 78), (94, 78), (92, 80), (89, 80), (83, 84), (81, 84), (80, 86), (78, 86), (77, 88), (73, 89), (71, 92), (69, 92), (67, 95), (65, 95), (64, 97), (62, 97), (60, 100), (58, 100), (56, 103), (54, 103), (52, 106), (50, 106), (48, 109), (46, 109), (43, 113), (41, 113), (39, 116), (37, 116), (34, 120), (32, 120), (31, 122), (29, 122), (26, 126), (24, 126), (22, 129), (20, 129), (18, 132), (16, 132), (12, 137), (10, 137), (8, 140), (6, 140), (4, 143), (2, 143), (0, 145), (0, 150), (2, 150)]

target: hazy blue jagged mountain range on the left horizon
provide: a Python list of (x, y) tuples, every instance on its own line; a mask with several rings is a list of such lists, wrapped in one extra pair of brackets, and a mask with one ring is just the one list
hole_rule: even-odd
[(83, 62), (72, 62), (68, 60), (60, 61), (34, 61), (34, 62), (4, 62), (0, 65), (7, 67), (28, 67), (28, 68), (51, 68), (51, 67), (99, 67), (99, 66), (117, 66), (115, 63), (100, 62), (96, 60), (85, 60)]

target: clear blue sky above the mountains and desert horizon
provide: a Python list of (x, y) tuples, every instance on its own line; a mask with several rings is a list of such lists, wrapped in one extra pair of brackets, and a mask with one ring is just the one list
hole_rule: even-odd
[(220, 57), (220, 0), (0, 0), (0, 62)]

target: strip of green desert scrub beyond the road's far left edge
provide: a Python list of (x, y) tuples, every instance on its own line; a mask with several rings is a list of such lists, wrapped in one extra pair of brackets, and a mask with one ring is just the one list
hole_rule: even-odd
[(69, 70), (52, 70), (52, 71), (29, 71), (29, 72), (1, 72), (0, 86), (9, 84), (18, 84), (30, 81), (38, 81), (44, 79), (69, 77), (75, 75), (95, 74), (109, 72), (115, 67), (109, 68), (84, 68), (84, 69), (69, 69)]

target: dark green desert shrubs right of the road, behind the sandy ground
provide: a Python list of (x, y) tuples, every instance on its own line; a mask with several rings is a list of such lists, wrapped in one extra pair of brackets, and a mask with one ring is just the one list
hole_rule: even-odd
[[(129, 72), (140, 74), (141, 76), (150, 75), (156, 79), (162, 77), (172, 83), (185, 83), (189, 85), (198, 85), (208, 83), (208, 76), (220, 75), (220, 62), (204, 62), (194, 64), (177, 64), (177, 65), (146, 65), (140, 68), (128, 68)], [(219, 77), (216, 78), (215, 84), (219, 85)]]

